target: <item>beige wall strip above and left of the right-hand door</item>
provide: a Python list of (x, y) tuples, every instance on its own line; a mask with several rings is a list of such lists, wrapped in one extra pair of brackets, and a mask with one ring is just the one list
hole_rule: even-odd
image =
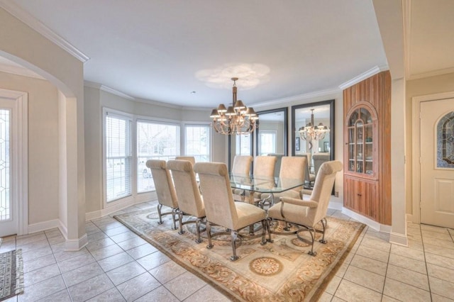
[[(411, 98), (414, 96), (424, 96), (427, 94), (439, 94), (442, 92), (454, 91), (454, 73), (443, 74), (436, 77), (426, 77), (423, 79), (414, 79), (406, 82), (406, 175), (413, 175), (411, 162), (413, 160), (411, 154), (413, 152), (413, 131), (411, 128)], [(413, 214), (413, 196), (411, 177), (407, 181), (406, 186), (406, 213)]]

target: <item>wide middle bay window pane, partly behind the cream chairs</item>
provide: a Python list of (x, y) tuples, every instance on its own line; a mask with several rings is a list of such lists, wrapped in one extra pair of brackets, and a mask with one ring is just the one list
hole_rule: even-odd
[(155, 190), (147, 160), (172, 160), (179, 156), (179, 125), (137, 122), (137, 191)]

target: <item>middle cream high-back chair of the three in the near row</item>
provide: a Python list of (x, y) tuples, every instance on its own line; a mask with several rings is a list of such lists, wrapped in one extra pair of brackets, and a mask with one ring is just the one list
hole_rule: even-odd
[[(184, 224), (195, 223), (197, 232), (196, 242), (200, 243), (200, 223), (204, 223), (205, 206), (200, 195), (199, 184), (197, 184), (192, 163), (188, 160), (169, 160), (167, 162), (167, 169), (170, 169), (172, 172), (175, 191), (177, 191), (179, 233), (184, 233)], [(194, 216), (196, 219), (183, 222), (182, 216), (184, 215)]]

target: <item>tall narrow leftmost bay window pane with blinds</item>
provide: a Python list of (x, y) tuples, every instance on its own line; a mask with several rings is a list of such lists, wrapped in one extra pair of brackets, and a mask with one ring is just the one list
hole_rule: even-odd
[(106, 200), (131, 195), (131, 122), (106, 116)]

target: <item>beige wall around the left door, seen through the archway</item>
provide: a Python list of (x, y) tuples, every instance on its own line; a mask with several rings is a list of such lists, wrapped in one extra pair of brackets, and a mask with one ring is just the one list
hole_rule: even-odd
[(28, 224), (57, 219), (57, 89), (45, 80), (3, 72), (0, 88), (28, 93)]

